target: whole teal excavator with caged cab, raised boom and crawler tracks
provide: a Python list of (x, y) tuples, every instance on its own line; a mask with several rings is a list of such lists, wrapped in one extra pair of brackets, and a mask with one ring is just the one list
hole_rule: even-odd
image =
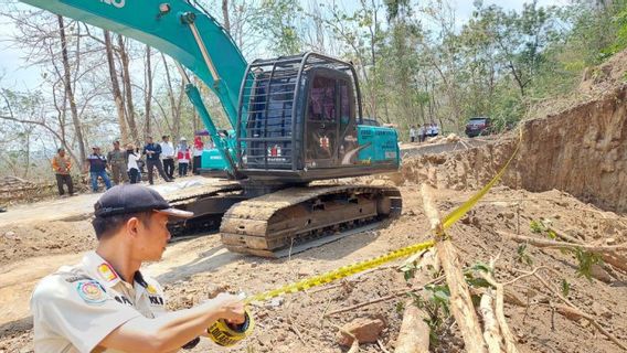
[(396, 171), (401, 157), (394, 129), (363, 124), (352, 63), (314, 52), (247, 63), (194, 0), (21, 1), (150, 45), (220, 99), (231, 125), (224, 130), (182, 69), (226, 175), (170, 196), (196, 215), (182, 226), (219, 227), (231, 252), (281, 257), (400, 214), (397, 189), (354, 183)]

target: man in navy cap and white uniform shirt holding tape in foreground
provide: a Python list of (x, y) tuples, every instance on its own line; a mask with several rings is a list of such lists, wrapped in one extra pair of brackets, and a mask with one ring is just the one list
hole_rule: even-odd
[(195, 345), (217, 319), (244, 322), (242, 301), (227, 293), (167, 312), (161, 286), (139, 270), (144, 261), (161, 259), (169, 217), (192, 213), (137, 184), (108, 190), (94, 208), (96, 250), (33, 291), (35, 352), (171, 352)]

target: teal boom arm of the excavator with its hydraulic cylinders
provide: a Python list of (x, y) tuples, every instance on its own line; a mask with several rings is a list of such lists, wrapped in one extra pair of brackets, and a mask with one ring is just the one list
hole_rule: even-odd
[[(236, 127), (240, 85), (246, 61), (229, 33), (205, 11), (183, 0), (21, 0), (33, 7), (132, 38), (168, 54), (202, 79)], [(185, 92), (235, 174), (227, 147), (217, 135), (198, 88)]]

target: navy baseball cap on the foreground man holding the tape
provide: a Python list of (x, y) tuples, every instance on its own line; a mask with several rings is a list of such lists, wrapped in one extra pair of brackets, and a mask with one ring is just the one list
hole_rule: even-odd
[(156, 211), (178, 218), (190, 218), (194, 215), (193, 212), (171, 207), (157, 191), (137, 184), (116, 185), (107, 190), (94, 204), (94, 211), (96, 217), (146, 211)]

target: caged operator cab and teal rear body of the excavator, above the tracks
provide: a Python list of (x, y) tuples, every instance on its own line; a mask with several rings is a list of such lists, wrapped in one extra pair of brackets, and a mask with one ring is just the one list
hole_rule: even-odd
[(258, 60), (246, 72), (236, 129), (242, 174), (307, 183), (397, 170), (396, 131), (361, 125), (352, 64), (306, 53)]

